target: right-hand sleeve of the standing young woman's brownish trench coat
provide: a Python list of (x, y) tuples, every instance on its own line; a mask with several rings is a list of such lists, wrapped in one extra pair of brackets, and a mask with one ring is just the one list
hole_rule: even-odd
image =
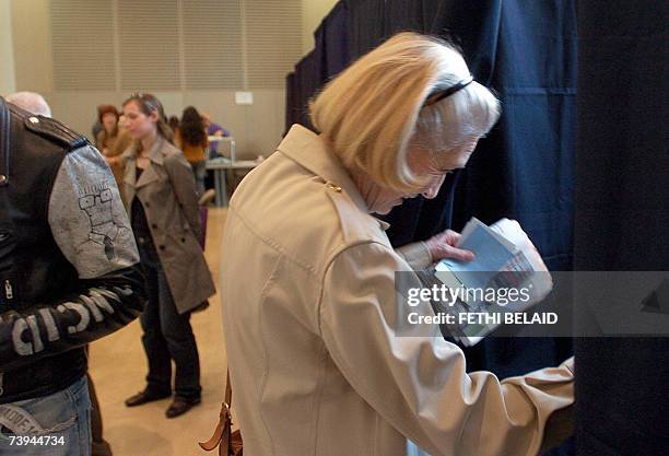
[(196, 238), (201, 238), (202, 226), (200, 223), (200, 209), (198, 207), (198, 194), (192, 175), (192, 168), (184, 157), (183, 153), (169, 155), (165, 159), (165, 169), (169, 175), (174, 194), (186, 218), (190, 230)]

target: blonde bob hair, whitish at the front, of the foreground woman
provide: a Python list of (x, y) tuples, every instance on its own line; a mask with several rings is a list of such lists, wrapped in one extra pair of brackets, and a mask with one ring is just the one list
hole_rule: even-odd
[(415, 192), (429, 177), (409, 167), (410, 145), (446, 153), (484, 136), (500, 117), (498, 101), (476, 81), (425, 105), (469, 75), (453, 45), (403, 32), (330, 81), (309, 105), (312, 124), (349, 169)]

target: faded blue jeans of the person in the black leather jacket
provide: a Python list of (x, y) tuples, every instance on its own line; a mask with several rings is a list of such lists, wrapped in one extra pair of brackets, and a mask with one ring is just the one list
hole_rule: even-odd
[(0, 454), (90, 456), (91, 399), (83, 376), (49, 396), (0, 406)]

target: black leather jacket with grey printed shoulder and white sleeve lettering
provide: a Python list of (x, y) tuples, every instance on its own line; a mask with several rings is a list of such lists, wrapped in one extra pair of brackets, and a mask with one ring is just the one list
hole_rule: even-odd
[(0, 98), (0, 404), (85, 374), (85, 344), (143, 308), (138, 261), (102, 155)]

